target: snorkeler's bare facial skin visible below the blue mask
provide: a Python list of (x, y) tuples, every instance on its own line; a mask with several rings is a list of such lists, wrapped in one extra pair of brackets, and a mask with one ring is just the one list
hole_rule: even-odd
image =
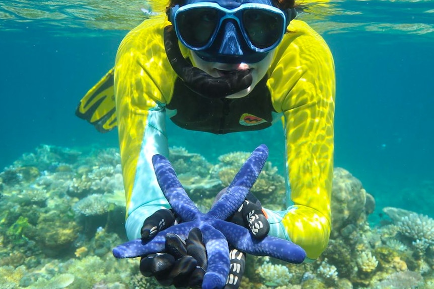
[(259, 62), (238, 64), (208, 62), (197, 56), (194, 51), (191, 52), (191, 55), (193, 57), (193, 62), (195, 63), (195, 66), (213, 77), (224, 76), (226, 71), (250, 69), (253, 78), (252, 84), (246, 89), (243, 89), (226, 97), (228, 99), (239, 99), (249, 94), (253, 90), (253, 88), (255, 88), (256, 84), (258, 84), (258, 82), (265, 76), (265, 73), (267, 73), (268, 67), (270, 66), (273, 59), (274, 51), (275, 50), (270, 51), (268, 55)]

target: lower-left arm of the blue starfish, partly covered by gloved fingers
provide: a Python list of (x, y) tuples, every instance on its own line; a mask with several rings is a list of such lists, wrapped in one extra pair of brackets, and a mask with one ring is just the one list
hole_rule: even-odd
[(192, 222), (182, 223), (159, 232), (149, 241), (143, 242), (141, 239), (128, 241), (113, 248), (113, 256), (116, 258), (135, 258), (163, 252), (165, 250), (167, 233), (174, 233), (181, 238), (187, 239), (188, 232), (190, 232), (193, 226)]

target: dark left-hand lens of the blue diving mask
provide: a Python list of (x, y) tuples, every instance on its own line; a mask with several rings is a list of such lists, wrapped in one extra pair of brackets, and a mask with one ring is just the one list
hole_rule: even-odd
[(176, 17), (178, 32), (192, 47), (205, 46), (218, 24), (218, 11), (212, 8), (195, 8), (182, 11)]

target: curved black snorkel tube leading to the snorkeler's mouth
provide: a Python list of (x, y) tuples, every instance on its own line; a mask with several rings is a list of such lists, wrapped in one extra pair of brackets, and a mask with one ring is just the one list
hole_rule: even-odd
[(252, 84), (252, 74), (248, 69), (232, 71), (221, 77), (212, 77), (205, 71), (192, 66), (182, 56), (178, 37), (172, 26), (164, 28), (164, 48), (170, 65), (179, 78), (202, 97), (222, 99)]

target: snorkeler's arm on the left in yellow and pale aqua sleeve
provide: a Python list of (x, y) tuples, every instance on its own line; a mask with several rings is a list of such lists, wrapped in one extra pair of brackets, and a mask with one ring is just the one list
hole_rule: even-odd
[(175, 80), (158, 21), (147, 20), (129, 32), (116, 55), (114, 92), (130, 240), (140, 238), (147, 217), (170, 208), (151, 161), (155, 154), (169, 154), (164, 107)]

